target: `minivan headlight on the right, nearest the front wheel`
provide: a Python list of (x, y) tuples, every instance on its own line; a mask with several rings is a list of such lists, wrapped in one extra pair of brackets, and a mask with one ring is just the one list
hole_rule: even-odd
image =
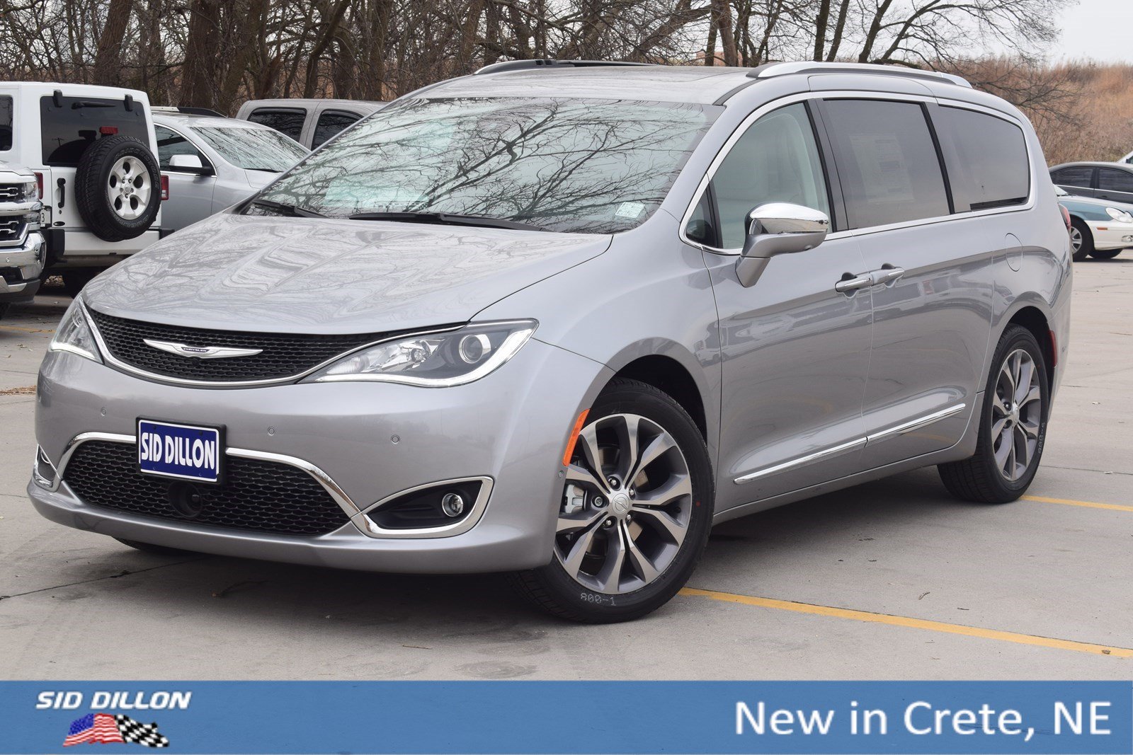
[(431, 388), (479, 380), (516, 355), (535, 333), (535, 320), (475, 323), (445, 333), (421, 333), (357, 351), (307, 381), (376, 380)]

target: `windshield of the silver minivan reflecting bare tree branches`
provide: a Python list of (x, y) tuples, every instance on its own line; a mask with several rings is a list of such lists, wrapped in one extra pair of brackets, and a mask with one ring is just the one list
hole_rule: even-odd
[(411, 100), (353, 126), (259, 196), (331, 217), (443, 213), (613, 233), (661, 205), (719, 110), (613, 100)]

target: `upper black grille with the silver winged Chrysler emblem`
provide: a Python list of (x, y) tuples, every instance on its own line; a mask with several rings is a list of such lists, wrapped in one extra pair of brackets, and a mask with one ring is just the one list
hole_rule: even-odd
[[(307, 335), (297, 333), (245, 333), (202, 331), (127, 320), (88, 310), (110, 352), (138, 369), (189, 380), (241, 383), (272, 380), (306, 372), (323, 362), (358, 346), (380, 341), (389, 333), (349, 335)], [(188, 346), (228, 346), (262, 349), (254, 357), (195, 359), (179, 357), (143, 342), (143, 338), (169, 341)]]

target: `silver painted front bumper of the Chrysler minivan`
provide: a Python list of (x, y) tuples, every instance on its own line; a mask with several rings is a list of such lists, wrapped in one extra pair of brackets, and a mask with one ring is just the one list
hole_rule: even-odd
[(492, 375), (451, 388), (187, 388), (51, 352), (40, 374), (36, 436), (52, 464), (82, 434), (128, 438), (138, 417), (157, 417), (223, 426), (230, 451), (309, 463), (363, 509), (441, 480), (487, 477), (493, 486), (475, 526), (435, 538), (375, 537), (358, 518), (324, 535), (293, 537), (133, 515), (84, 503), (66, 471), (56, 490), (33, 479), (27, 491), (60, 524), (186, 550), (376, 572), (531, 568), (551, 558), (570, 429), (610, 376), (597, 362), (534, 338)]

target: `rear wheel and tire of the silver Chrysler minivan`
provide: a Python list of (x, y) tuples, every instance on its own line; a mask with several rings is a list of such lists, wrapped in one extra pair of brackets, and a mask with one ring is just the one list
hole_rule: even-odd
[(1034, 335), (1013, 325), (996, 349), (983, 395), (976, 454), (938, 470), (954, 496), (988, 504), (1015, 500), (1034, 479), (1047, 435), (1049, 387)]

